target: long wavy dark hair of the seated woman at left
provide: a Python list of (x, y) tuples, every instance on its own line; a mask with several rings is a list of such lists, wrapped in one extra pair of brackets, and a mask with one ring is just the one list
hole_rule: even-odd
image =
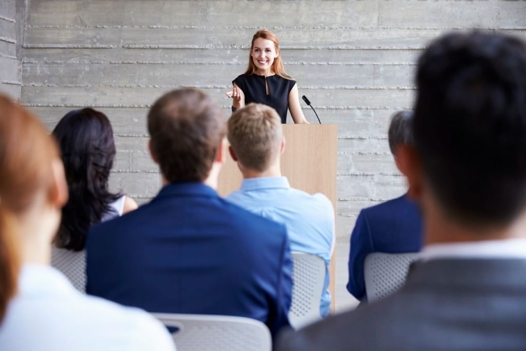
[(89, 227), (99, 223), (119, 195), (108, 190), (115, 142), (108, 117), (92, 108), (68, 112), (56, 125), (64, 162), (69, 201), (62, 209), (57, 245), (82, 250)]

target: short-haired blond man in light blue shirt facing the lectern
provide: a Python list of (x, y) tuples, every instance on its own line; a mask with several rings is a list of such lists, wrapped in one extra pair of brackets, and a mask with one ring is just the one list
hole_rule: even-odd
[(330, 308), (328, 266), (334, 246), (334, 209), (322, 194), (309, 195), (291, 188), (281, 176), (280, 156), (285, 151), (281, 119), (274, 108), (249, 104), (228, 120), (230, 155), (243, 174), (240, 190), (227, 199), (252, 213), (287, 227), (292, 251), (325, 260), (326, 274), (320, 314)]

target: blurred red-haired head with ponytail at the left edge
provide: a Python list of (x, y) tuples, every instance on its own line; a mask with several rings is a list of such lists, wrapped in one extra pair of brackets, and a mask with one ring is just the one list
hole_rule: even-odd
[(36, 198), (52, 196), (58, 150), (31, 113), (0, 96), (0, 319), (19, 268), (17, 224)]

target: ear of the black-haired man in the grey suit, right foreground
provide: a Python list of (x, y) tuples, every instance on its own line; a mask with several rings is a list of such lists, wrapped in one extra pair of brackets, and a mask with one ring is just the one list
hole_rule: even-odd
[(407, 177), (409, 197), (419, 200), (422, 196), (423, 174), (417, 151), (412, 146), (400, 145), (396, 150), (395, 162), (400, 172)]

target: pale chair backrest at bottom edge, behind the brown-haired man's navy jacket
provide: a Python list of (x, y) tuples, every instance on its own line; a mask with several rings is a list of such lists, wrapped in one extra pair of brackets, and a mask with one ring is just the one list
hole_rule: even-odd
[(246, 317), (154, 313), (172, 333), (177, 351), (270, 351), (267, 326)]

